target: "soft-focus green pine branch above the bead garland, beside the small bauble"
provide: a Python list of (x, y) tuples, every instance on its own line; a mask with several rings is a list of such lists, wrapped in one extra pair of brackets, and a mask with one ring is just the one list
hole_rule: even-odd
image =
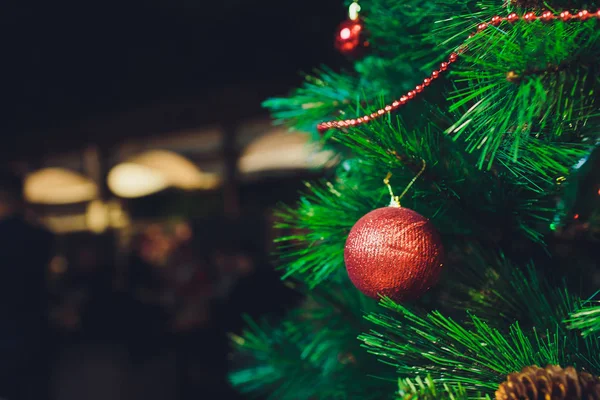
[(361, 3), (371, 53), (356, 61), (353, 71), (340, 73), (321, 67), (305, 75), (303, 85), (288, 96), (268, 99), (263, 105), (277, 123), (311, 132), (318, 139), (317, 123), (358, 116), (364, 107), (370, 113), (376, 104), (389, 103), (414, 88), (464, 40), (448, 37), (448, 31), (439, 30), (439, 26), (448, 25), (450, 15), (468, 12), (469, 18), (453, 21), (452, 25), (470, 28), (477, 15), (469, 11), (474, 4), (446, 0)]

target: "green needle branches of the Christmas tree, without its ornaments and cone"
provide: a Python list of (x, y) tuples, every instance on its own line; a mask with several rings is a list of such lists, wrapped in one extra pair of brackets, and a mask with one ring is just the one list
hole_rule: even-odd
[[(526, 11), (503, 0), (459, 3), (361, 0), (374, 52), (350, 75), (323, 69), (265, 105), (279, 122), (314, 133), (319, 121), (359, 114), (414, 85), (492, 15)], [(506, 374), (532, 364), (600, 372), (596, 306), (582, 307), (530, 265), (521, 270), (526, 261), (516, 262), (513, 248), (545, 242), (555, 197), (600, 138), (597, 23), (490, 27), (469, 41), (450, 82), (432, 84), (400, 118), (325, 138), (341, 156), (336, 177), (279, 209), (279, 226), (292, 231), (279, 240), (284, 276), (302, 279), (310, 300), (282, 324), (250, 323), (237, 338), (251, 361), (232, 374), (237, 387), (283, 400), (378, 399), (394, 385), (369, 375), (389, 370), (400, 378), (399, 399), (462, 400), (492, 395)], [(561, 68), (535, 72), (548, 65)], [(383, 177), (391, 172), (401, 191), (421, 160), (427, 171), (402, 205), (444, 235), (446, 275), (417, 304), (385, 299), (375, 308), (345, 276), (345, 239), (356, 220), (387, 205)]]

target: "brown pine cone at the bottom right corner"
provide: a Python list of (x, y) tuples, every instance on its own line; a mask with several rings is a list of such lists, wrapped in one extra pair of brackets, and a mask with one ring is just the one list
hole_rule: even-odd
[(496, 400), (600, 400), (600, 378), (573, 367), (525, 367), (508, 375)]

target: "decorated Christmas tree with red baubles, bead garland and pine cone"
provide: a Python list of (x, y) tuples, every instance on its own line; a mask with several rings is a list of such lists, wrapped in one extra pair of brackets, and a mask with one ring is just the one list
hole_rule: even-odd
[(600, 398), (598, 3), (360, 0), (335, 44), (349, 71), (265, 102), (336, 164), (278, 210), (306, 299), (233, 336), (233, 385)]

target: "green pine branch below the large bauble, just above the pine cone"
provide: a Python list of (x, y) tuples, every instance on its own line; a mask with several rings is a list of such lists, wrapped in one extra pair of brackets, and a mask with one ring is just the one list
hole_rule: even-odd
[[(511, 372), (528, 365), (575, 365), (600, 371), (590, 349), (573, 349), (560, 329), (525, 331), (518, 323), (506, 332), (474, 315), (470, 328), (433, 311), (423, 316), (383, 299), (387, 313), (371, 313), (376, 329), (360, 336), (365, 348), (401, 377), (430, 374), (435, 382), (462, 385), (467, 392), (493, 393)], [(597, 349), (597, 348), (596, 348)]]

